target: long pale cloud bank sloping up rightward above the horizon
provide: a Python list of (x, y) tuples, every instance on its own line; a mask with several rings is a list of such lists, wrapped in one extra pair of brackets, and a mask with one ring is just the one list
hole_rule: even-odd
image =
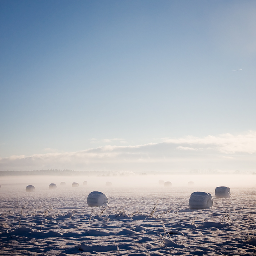
[[(106, 140), (107, 142), (107, 140)], [(135, 146), (101, 146), (77, 152), (13, 155), (0, 158), (1, 171), (169, 171), (193, 169), (256, 171), (256, 131), (245, 134), (165, 139)]]

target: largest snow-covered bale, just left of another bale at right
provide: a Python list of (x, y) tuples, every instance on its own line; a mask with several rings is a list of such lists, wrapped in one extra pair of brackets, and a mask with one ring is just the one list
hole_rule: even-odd
[(212, 195), (206, 192), (194, 192), (189, 198), (190, 209), (204, 209), (213, 206)]

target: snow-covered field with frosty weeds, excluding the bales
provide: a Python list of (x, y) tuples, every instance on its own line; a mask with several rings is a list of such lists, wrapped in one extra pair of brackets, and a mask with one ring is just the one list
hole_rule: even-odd
[[(25, 184), (2, 184), (0, 255), (256, 253), (256, 187), (230, 187), (231, 198), (215, 199), (215, 187), (57, 185), (56, 190), (37, 185), (26, 193)], [(95, 190), (107, 194), (109, 208), (87, 206)], [(211, 193), (213, 208), (190, 210), (194, 191)]]

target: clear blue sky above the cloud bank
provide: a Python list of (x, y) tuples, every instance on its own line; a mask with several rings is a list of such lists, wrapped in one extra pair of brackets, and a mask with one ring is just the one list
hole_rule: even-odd
[(1, 0), (0, 157), (255, 131), (255, 12)]

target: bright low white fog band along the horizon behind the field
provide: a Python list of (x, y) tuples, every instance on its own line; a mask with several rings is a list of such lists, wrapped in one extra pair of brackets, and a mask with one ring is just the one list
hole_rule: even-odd
[(255, 186), (256, 175), (2, 176), (0, 185), (40, 185), (48, 188), (50, 183), (59, 187), (64, 181), (66, 186), (78, 182), (81, 187), (83, 181), (87, 181), (88, 187), (105, 187), (109, 181), (112, 187), (152, 187), (160, 186), (159, 180), (170, 181), (172, 187), (186, 187), (189, 181), (193, 181), (195, 187), (251, 187)]

